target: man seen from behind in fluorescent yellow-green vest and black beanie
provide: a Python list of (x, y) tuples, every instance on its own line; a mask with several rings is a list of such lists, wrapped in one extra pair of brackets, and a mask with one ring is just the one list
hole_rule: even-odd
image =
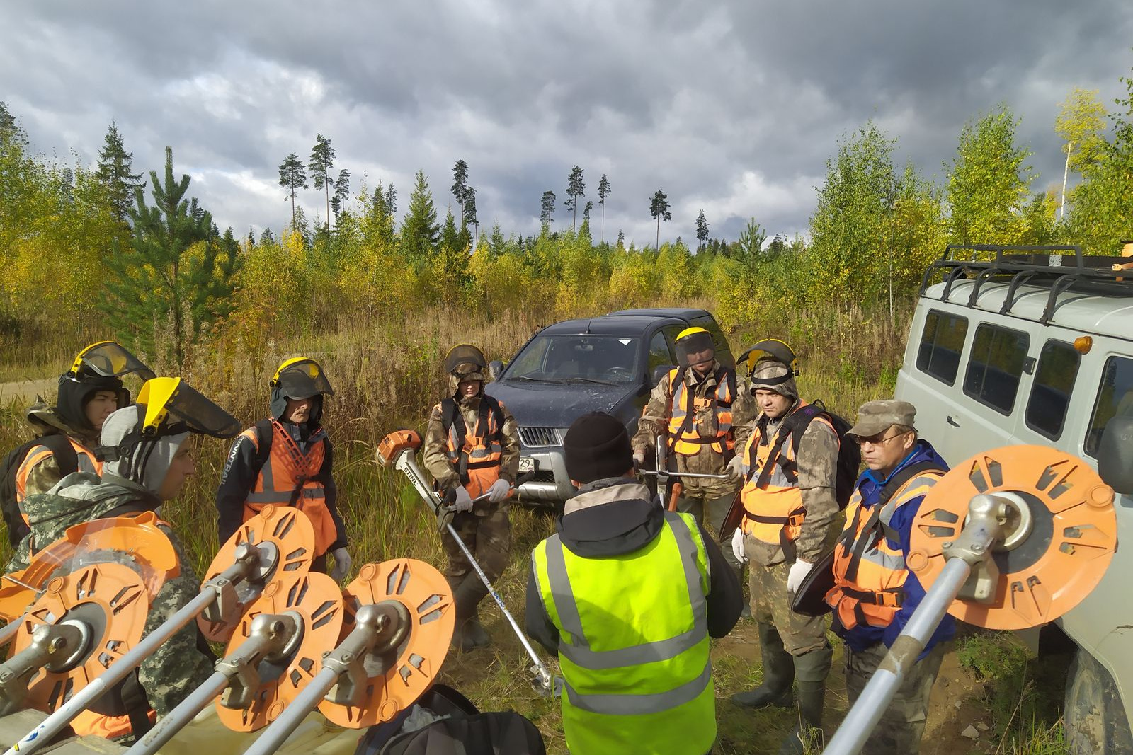
[(708, 637), (735, 626), (740, 583), (690, 514), (634, 478), (625, 427), (583, 414), (563, 439), (579, 489), (531, 552), (527, 634), (559, 654), (572, 755), (704, 755), (716, 739)]

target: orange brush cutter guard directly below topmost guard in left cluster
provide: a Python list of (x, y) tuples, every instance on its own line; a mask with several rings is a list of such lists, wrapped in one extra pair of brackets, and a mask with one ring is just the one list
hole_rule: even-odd
[(225, 727), (232, 731), (256, 731), (279, 718), (318, 672), (323, 653), (338, 644), (342, 602), (338, 583), (320, 573), (281, 575), (264, 587), (232, 633), (225, 654), (248, 638), (252, 620), (261, 614), (297, 614), (303, 623), (303, 636), (286, 666), (259, 664), (261, 687), (252, 707), (231, 709), (216, 701), (216, 711)]

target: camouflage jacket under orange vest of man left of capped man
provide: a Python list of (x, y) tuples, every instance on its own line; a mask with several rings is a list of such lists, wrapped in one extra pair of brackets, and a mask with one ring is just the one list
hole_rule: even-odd
[[(775, 443), (782, 418), (768, 420), (763, 434), (757, 429), (763, 413), (751, 423), (749, 443), (760, 443), (766, 438), (768, 444)], [(793, 443), (787, 437), (784, 448)], [(755, 454), (752, 454), (752, 457)], [(826, 541), (832, 537), (834, 518), (838, 513), (838, 501), (835, 496), (835, 484), (838, 467), (838, 437), (825, 422), (811, 421), (799, 443), (799, 455), (795, 458), (799, 470), (799, 490), (802, 492), (802, 505), (807, 509), (800, 527), (799, 538), (787, 543), (791, 552), (785, 552), (782, 544), (761, 542), (753, 538), (747, 539), (747, 548), (751, 558), (764, 566), (782, 561), (794, 561), (802, 558), (813, 564), (825, 549)], [(758, 475), (760, 470), (755, 470)]]

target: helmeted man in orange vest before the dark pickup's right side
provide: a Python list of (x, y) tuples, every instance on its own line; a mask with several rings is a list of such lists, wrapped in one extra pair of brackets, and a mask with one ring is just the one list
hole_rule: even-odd
[[(729, 474), (727, 480), (681, 480), (676, 511), (691, 513), (717, 537), (740, 488), (736, 448), (751, 432), (755, 404), (746, 381), (716, 360), (712, 334), (690, 327), (676, 336), (678, 368), (661, 378), (641, 413), (633, 436), (633, 458), (641, 466), (657, 436), (665, 438), (668, 469), (674, 472)], [(742, 565), (731, 548), (724, 555), (739, 577)]]

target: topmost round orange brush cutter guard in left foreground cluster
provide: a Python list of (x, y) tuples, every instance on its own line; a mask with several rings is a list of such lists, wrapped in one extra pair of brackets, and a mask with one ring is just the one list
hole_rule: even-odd
[[(271, 560), (265, 570), (254, 575), (255, 580), (245, 580), (237, 586), (240, 602), (247, 604), (258, 597), (261, 585), (284, 574), (305, 574), (310, 568), (315, 558), (315, 529), (299, 509), (269, 504), (220, 547), (208, 565), (204, 582), (235, 564), (236, 549), (244, 544), (259, 548)], [(198, 616), (197, 626), (210, 642), (228, 642), (239, 620), (239, 616), (225, 616), (220, 621), (208, 621)]]

